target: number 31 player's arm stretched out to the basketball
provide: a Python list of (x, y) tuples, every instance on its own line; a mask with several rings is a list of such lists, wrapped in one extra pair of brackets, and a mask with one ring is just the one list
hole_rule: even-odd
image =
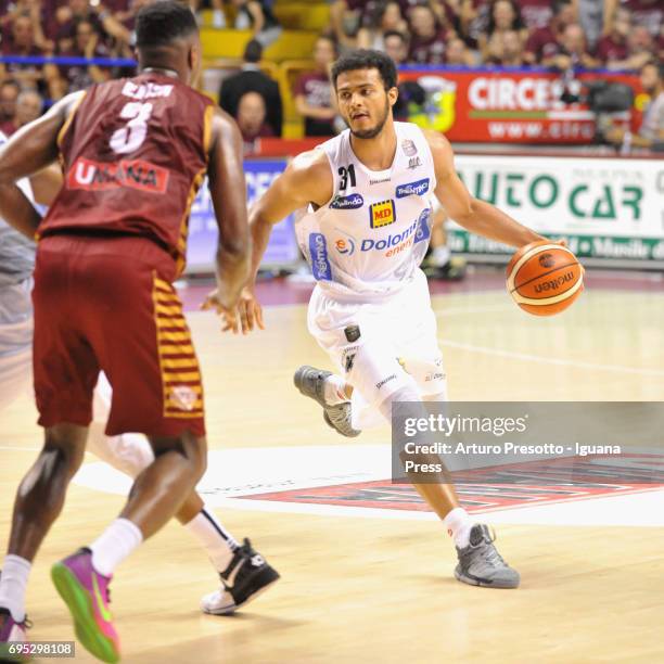
[(490, 203), (471, 196), (455, 169), (449, 141), (433, 131), (426, 131), (425, 136), (434, 158), (436, 197), (457, 224), (472, 233), (511, 246), (546, 240)]

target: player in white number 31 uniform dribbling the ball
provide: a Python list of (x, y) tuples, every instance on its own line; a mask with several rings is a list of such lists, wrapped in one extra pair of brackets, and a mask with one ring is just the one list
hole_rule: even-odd
[[(445, 137), (394, 122), (397, 74), (384, 53), (342, 58), (332, 82), (348, 129), (293, 159), (255, 204), (250, 224), (255, 274), (272, 225), (308, 207), (296, 226), (318, 282), (308, 328), (339, 374), (301, 367), (295, 384), (322, 406), (329, 425), (354, 436), (390, 421), (393, 404), (447, 398), (436, 321), (418, 267), (430, 238), (431, 195), (458, 224), (491, 240), (518, 247), (544, 238), (471, 197)], [(253, 284), (239, 308), (243, 332), (263, 328)], [(487, 526), (459, 507), (451, 485), (414, 486), (454, 538), (459, 580), (519, 585), (519, 573), (499, 556)]]

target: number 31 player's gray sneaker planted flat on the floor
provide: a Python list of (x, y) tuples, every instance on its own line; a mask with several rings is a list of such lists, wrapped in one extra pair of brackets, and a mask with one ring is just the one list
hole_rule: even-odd
[(470, 544), (464, 549), (457, 548), (459, 564), (455, 570), (458, 580), (471, 586), (485, 588), (516, 588), (521, 577), (512, 570), (494, 546), (495, 535), (488, 527), (476, 524), (471, 528)]

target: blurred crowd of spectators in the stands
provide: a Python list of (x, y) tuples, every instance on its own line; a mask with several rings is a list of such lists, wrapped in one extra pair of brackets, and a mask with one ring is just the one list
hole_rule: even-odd
[[(138, 10), (150, 0), (0, 0), (2, 55), (132, 58)], [(312, 1), (312, 0), (311, 0)], [(324, 0), (323, 0), (324, 1)], [(191, 0), (212, 27), (253, 33), (240, 72), (220, 103), (248, 144), (280, 136), (277, 82), (258, 65), (280, 38), (274, 0)], [(664, 58), (664, 0), (329, 0), (330, 25), (317, 39), (310, 72), (293, 98), (307, 136), (339, 130), (328, 79), (331, 63), (354, 48), (387, 52), (399, 65), (640, 69)], [(284, 37), (285, 38), (285, 37)], [(122, 66), (0, 64), (0, 129), (12, 133), (44, 100), (130, 73)]]

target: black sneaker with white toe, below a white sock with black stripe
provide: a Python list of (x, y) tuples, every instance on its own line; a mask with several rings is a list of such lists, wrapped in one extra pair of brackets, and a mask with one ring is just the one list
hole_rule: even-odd
[(221, 587), (201, 600), (201, 609), (213, 615), (229, 615), (267, 590), (279, 578), (279, 573), (245, 538), (219, 577)]

